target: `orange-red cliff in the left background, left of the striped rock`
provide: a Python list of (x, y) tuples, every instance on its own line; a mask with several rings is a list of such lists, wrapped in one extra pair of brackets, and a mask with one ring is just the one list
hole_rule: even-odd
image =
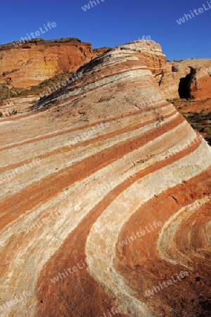
[(29, 88), (65, 70), (75, 72), (108, 49), (94, 50), (90, 43), (79, 40), (56, 41), (0, 46), (0, 83)]

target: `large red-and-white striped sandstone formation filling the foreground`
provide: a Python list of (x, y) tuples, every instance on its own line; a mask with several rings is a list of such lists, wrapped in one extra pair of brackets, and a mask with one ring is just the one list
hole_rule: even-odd
[(1, 316), (209, 316), (211, 149), (164, 61), (118, 46), (1, 120)]

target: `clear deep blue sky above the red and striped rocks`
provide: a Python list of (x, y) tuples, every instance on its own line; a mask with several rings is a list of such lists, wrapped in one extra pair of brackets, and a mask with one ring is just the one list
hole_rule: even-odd
[[(167, 59), (211, 58), (211, 8), (207, 0), (98, 2), (83, 11), (81, 7), (88, 0), (1, 0), (0, 44), (18, 41), (39, 27), (44, 30), (44, 24), (55, 22), (57, 26), (40, 37), (78, 37), (96, 48), (113, 47), (149, 35), (161, 44)], [(207, 11), (194, 13), (194, 18), (181, 25), (176, 22), (184, 13), (203, 8), (203, 4)]]

